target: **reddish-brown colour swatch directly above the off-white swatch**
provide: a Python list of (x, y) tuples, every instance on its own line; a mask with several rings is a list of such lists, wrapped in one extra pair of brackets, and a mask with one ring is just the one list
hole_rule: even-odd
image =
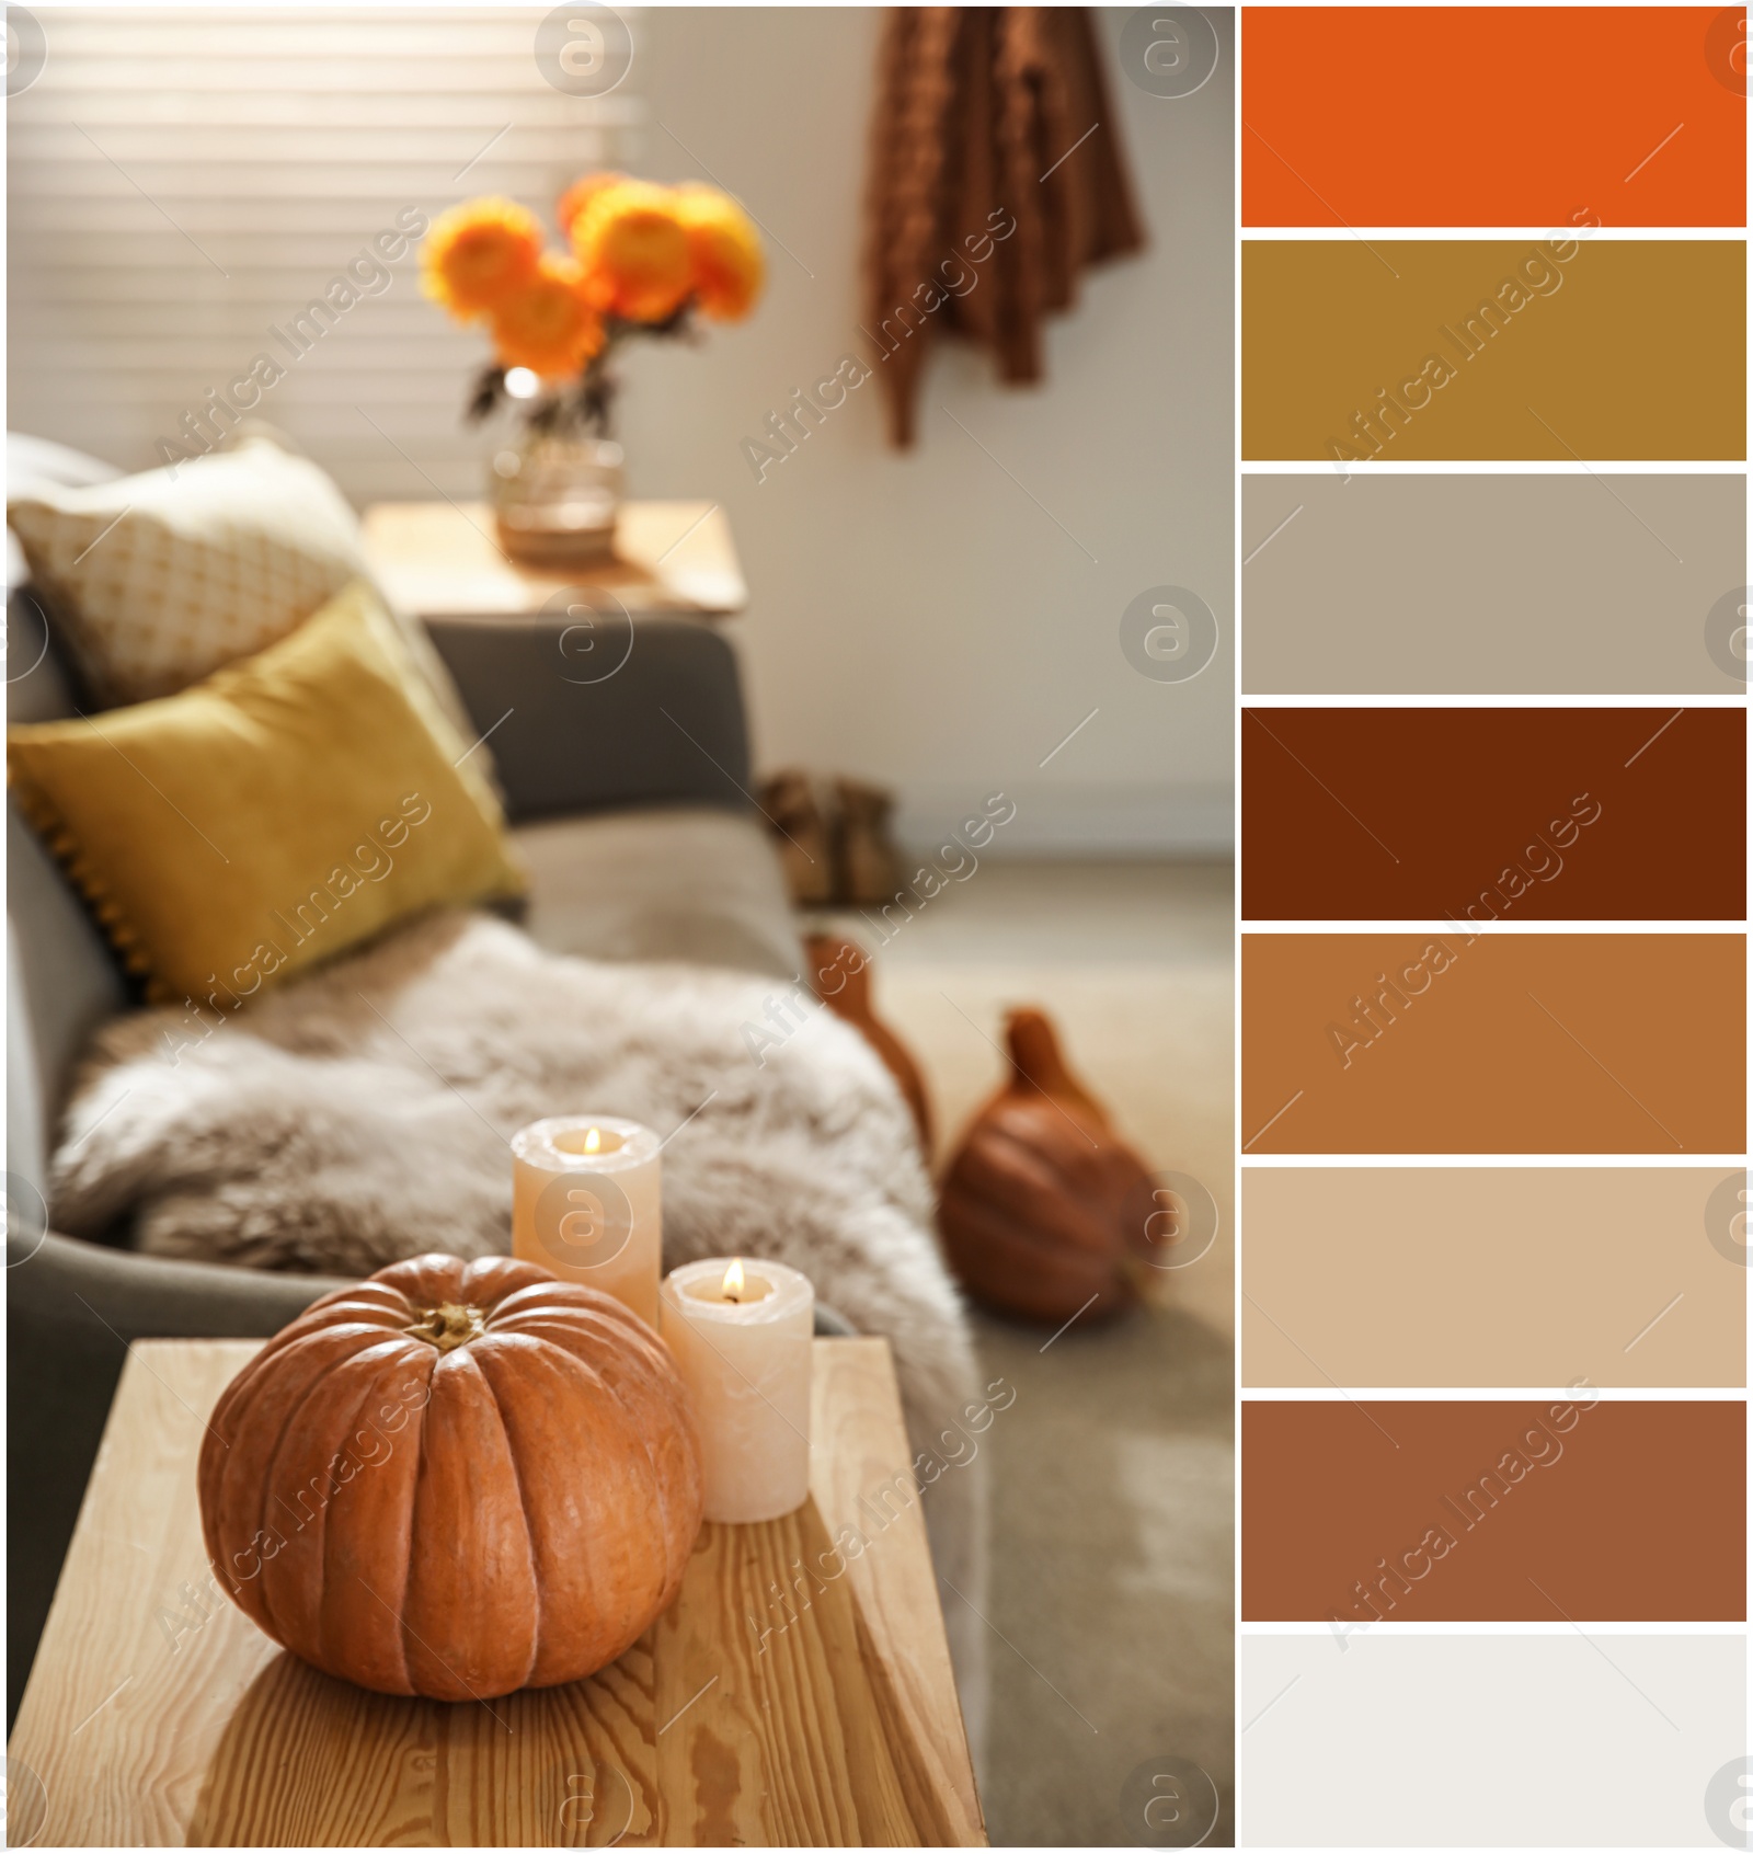
[(1249, 1402), (1242, 1615), (1740, 1622), (1744, 1448), (1742, 1403)]

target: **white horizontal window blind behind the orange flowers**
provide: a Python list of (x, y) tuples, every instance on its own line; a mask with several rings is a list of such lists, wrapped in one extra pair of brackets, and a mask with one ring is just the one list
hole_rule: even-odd
[(552, 226), (641, 121), (637, 59), (600, 98), (545, 80), (547, 17), (43, 7), (48, 57), (7, 113), (11, 428), (146, 469), (267, 354), (252, 415), (356, 502), (478, 495), (461, 408), (486, 343), (421, 297), (408, 228), (476, 193)]

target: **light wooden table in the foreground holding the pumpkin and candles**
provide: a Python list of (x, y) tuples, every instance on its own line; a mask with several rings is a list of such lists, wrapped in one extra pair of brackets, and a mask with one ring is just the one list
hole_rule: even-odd
[[(195, 1457), (256, 1350), (130, 1352), (9, 1745), (13, 1847), (984, 1845), (886, 1340), (815, 1340), (808, 1505), (706, 1526), (613, 1667), (467, 1706), (330, 1680), (215, 1594)], [(843, 1526), (867, 1550), (763, 1646), (771, 1585)]]

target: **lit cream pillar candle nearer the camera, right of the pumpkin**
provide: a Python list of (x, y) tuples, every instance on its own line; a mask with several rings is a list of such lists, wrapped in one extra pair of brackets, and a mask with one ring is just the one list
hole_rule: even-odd
[(693, 1400), (706, 1517), (795, 1513), (810, 1498), (808, 1277), (784, 1263), (687, 1263), (663, 1283), (662, 1331)]

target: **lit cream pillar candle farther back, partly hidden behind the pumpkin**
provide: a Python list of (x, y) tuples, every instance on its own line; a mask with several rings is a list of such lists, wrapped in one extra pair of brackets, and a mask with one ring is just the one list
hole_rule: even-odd
[(663, 1213), (658, 1135), (637, 1120), (565, 1114), (511, 1138), (511, 1253), (658, 1324)]

